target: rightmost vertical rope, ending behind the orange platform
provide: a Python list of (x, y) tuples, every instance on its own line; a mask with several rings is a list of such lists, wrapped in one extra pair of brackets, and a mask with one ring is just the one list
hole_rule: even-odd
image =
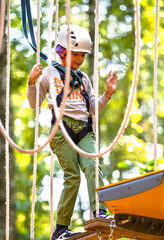
[(157, 170), (157, 67), (158, 67), (158, 18), (159, 1), (156, 0), (154, 48), (154, 170)]

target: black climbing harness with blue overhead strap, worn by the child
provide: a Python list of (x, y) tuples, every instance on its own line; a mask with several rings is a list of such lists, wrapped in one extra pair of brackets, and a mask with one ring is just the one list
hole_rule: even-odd
[[(23, 26), (23, 31), (24, 31), (25, 38), (27, 39), (28, 43), (33, 48), (33, 50), (35, 52), (37, 52), (37, 46), (36, 46), (35, 35), (34, 35), (34, 28), (33, 28), (33, 23), (32, 23), (30, 0), (21, 0), (21, 8), (22, 8), (22, 26)], [(27, 20), (28, 20), (28, 26), (29, 26), (31, 41), (29, 40), (29, 37), (28, 37)], [(41, 57), (42, 60), (44, 60), (46, 63), (48, 63), (48, 57), (44, 53), (40, 52), (40, 57)], [(66, 74), (66, 67), (62, 66), (61, 64), (59, 64), (55, 60), (52, 60), (51, 65), (59, 71), (61, 79), (64, 81), (65, 80), (65, 74)], [(74, 72), (73, 70), (70, 70), (70, 77), (72, 78), (72, 80), (70, 82), (70, 86), (72, 87), (72, 89), (83, 85), (82, 80), (81, 80), (81, 75), (82, 75), (82, 73), (81, 73), (80, 70), (77, 70), (77, 73)], [(64, 90), (62, 89), (61, 93), (57, 96), (57, 99), (56, 99), (57, 100), (57, 106), (60, 106), (60, 104), (61, 104), (63, 93), (64, 93)], [(70, 94), (71, 94), (71, 92), (70, 92)], [(81, 91), (81, 94), (84, 96), (84, 99), (85, 99), (86, 104), (87, 104), (87, 110), (89, 112), (88, 94), (86, 93), (86, 91), (84, 89)], [(52, 121), (51, 121), (51, 123), (52, 124), (55, 123), (54, 110), (52, 111)], [(93, 131), (92, 130), (92, 117), (91, 117), (91, 115), (89, 115), (89, 117), (88, 117), (88, 122), (86, 124), (86, 127), (84, 129), (82, 129), (82, 131), (78, 134), (78, 136), (75, 136), (72, 129), (71, 128), (68, 129), (68, 128), (69, 127), (66, 125), (66, 129), (68, 131), (68, 134), (71, 136), (71, 138), (73, 139), (73, 141), (75, 143), (78, 143), (83, 137), (86, 136), (88, 131), (89, 132)]]

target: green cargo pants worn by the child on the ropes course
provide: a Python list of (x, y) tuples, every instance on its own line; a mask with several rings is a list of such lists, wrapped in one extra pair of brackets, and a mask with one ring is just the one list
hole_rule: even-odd
[[(85, 122), (77, 121), (72, 118), (63, 117), (63, 121), (74, 130), (77, 134), (84, 126)], [(78, 147), (88, 153), (95, 152), (94, 132), (89, 132), (79, 143)], [(73, 214), (79, 185), (80, 185), (80, 169), (84, 172), (89, 193), (89, 201), (92, 211), (96, 210), (95, 205), (95, 159), (84, 157), (78, 154), (67, 142), (58, 129), (54, 138), (50, 143), (52, 151), (56, 154), (60, 166), (64, 172), (64, 189), (60, 196), (57, 207), (56, 224), (70, 225)], [(103, 186), (102, 172), (99, 168), (99, 186)], [(100, 209), (106, 210), (103, 203), (99, 205)]]

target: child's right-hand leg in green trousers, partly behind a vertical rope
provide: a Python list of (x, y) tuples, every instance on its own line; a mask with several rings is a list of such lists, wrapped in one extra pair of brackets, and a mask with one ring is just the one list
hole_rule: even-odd
[[(88, 152), (95, 153), (95, 140), (94, 133), (89, 132), (79, 143), (78, 146)], [(79, 164), (82, 171), (85, 173), (87, 180), (89, 200), (92, 211), (96, 210), (96, 200), (95, 200), (95, 158), (88, 158), (79, 155)], [(99, 166), (99, 186), (103, 186), (102, 172)], [(106, 210), (104, 203), (99, 203), (99, 209)]]

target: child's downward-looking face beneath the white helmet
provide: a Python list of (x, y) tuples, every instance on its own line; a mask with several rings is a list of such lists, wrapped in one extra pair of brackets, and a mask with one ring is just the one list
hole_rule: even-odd
[(78, 69), (84, 62), (86, 53), (84, 52), (71, 52), (71, 69)]

